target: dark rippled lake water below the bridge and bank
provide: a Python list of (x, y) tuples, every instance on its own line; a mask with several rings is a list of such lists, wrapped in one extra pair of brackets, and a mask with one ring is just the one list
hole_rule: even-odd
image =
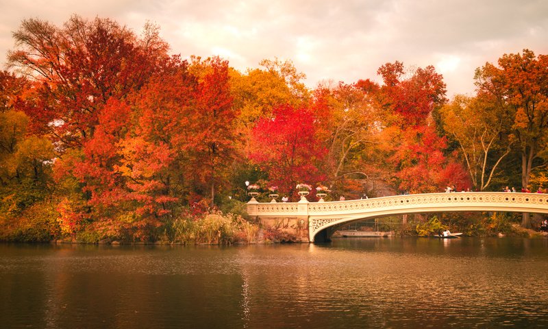
[(548, 326), (548, 240), (3, 244), (0, 326)]

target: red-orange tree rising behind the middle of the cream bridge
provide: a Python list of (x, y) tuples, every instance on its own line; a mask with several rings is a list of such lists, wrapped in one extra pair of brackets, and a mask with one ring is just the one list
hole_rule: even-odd
[(377, 152), (388, 161), (377, 165), (385, 177), (411, 193), (440, 191), (449, 182), (466, 186), (432, 120), (432, 112), (447, 101), (442, 75), (434, 66), (406, 71), (401, 62), (386, 63), (377, 73), (383, 79), (380, 87), (364, 80), (360, 88), (373, 95), (381, 113)]

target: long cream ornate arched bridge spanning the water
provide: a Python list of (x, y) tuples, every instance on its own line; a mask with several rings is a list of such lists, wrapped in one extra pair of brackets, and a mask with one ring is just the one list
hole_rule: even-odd
[(394, 195), (338, 202), (247, 203), (248, 217), (285, 230), (299, 241), (327, 240), (340, 226), (362, 219), (427, 212), (532, 212), (548, 214), (548, 194), (461, 192)]

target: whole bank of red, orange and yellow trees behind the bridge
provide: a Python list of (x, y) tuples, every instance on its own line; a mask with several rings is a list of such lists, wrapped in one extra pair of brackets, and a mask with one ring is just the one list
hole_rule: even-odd
[[(262, 201), (273, 186), (297, 201), (299, 183), (327, 186), (326, 201), (548, 187), (548, 56), (527, 49), (479, 67), (475, 95), (447, 99), (434, 66), (387, 62), (382, 83), (310, 89), (289, 60), (241, 72), (172, 55), (152, 24), (138, 35), (110, 19), (27, 19), (13, 37), (0, 72), (4, 241), (295, 239), (242, 217), (245, 182)], [(422, 220), (421, 232), (437, 225)], [(536, 226), (529, 214), (439, 220), (469, 235)]]

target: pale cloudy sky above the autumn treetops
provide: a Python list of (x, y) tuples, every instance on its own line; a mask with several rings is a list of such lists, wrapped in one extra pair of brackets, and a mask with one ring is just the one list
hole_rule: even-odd
[(71, 14), (108, 17), (136, 34), (152, 21), (171, 53), (219, 55), (240, 71), (292, 60), (310, 88), (380, 82), (379, 66), (399, 60), (434, 65), (452, 97), (473, 93), (474, 70), (504, 53), (548, 54), (548, 0), (0, 0), (2, 62), (23, 19), (62, 25)]

